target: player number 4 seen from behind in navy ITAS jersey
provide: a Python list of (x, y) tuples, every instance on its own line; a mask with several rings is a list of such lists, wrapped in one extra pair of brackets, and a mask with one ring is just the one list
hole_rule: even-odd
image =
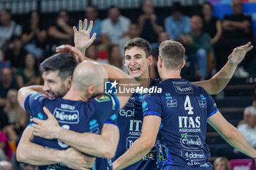
[[(247, 53), (252, 46), (240, 47)], [(173, 40), (159, 46), (157, 68), (162, 83), (162, 94), (147, 94), (143, 101), (143, 127), (139, 139), (116, 161), (123, 169), (150, 152), (157, 134), (167, 147), (164, 170), (212, 169), (210, 152), (205, 143), (206, 122), (210, 123), (227, 142), (252, 158), (253, 149), (241, 133), (222, 117), (214, 100), (202, 87), (181, 79), (185, 49)], [(236, 62), (236, 61), (233, 61)]]

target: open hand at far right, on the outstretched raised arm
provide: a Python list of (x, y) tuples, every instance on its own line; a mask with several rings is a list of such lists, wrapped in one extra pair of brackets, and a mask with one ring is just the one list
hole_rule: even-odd
[(251, 42), (248, 42), (246, 45), (241, 45), (240, 47), (236, 47), (233, 52), (228, 56), (228, 60), (231, 63), (240, 63), (243, 61), (244, 56), (249, 50), (252, 50)]

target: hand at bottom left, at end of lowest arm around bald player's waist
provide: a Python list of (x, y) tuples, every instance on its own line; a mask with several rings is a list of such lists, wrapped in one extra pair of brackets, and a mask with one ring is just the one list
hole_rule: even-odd
[(95, 158), (84, 155), (72, 147), (69, 147), (64, 152), (61, 163), (64, 163), (70, 169), (84, 170), (91, 169), (94, 166)]

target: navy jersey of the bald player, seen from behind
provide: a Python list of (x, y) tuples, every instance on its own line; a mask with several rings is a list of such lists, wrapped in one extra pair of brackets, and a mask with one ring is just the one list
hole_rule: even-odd
[[(89, 101), (69, 101), (63, 98), (48, 99), (40, 93), (32, 94), (26, 101), (26, 110), (31, 117), (41, 120), (47, 119), (42, 107), (47, 107), (56, 117), (62, 128), (80, 133), (90, 132), (99, 134), (103, 124), (108, 120), (116, 122), (116, 103), (113, 96), (102, 95)], [(104, 108), (105, 112), (102, 112)], [(116, 124), (116, 123), (115, 123)], [(34, 142), (54, 150), (66, 150), (69, 145), (57, 139), (43, 139), (34, 136)], [(112, 169), (111, 162), (105, 159), (106, 169)], [(109, 167), (108, 167), (109, 166)], [(69, 169), (58, 163), (50, 166), (39, 166), (39, 169)]]

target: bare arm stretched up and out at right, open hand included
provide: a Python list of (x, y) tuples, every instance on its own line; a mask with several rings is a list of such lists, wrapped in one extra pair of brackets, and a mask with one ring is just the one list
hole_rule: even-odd
[(228, 61), (223, 66), (223, 68), (217, 72), (210, 80), (202, 81), (202, 82), (192, 82), (194, 85), (202, 86), (209, 94), (217, 94), (221, 90), (223, 90), (227, 83), (230, 81), (233, 76), (238, 63), (243, 61), (246, 53), (249, 50), (252, 50), (251, 42), (248, 42), (246, 45), (242, 45), (240, 47), (236, 47), (228, 56)]

